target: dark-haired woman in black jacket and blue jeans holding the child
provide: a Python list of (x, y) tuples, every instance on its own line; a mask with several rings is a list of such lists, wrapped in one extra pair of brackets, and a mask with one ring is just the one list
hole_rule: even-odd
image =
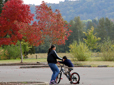
[(59, 69), (58, 69), (58, 66), (56, 65), (58, 63), (57, 59), (62, 60), (62, 58), (60, 58), (57, 55), (55, 50), (56, 50), (55, 45), (52, 45), (51, 48), (49, 48), (49, 50), (48, 50), (47, 62), (48, 62), (48, 65), (49, 65), (50, 69), (53, 72), (50, 84), (56, 84), (55, 79), (56, 79), (56, 77), (58, 76), (58, 74), (60, 72)]

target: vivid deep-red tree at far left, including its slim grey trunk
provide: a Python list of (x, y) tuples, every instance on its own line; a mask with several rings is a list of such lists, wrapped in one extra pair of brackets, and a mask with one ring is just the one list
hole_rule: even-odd
[[(41, 31), (37, 23), (30, 25), (33, 16), (30, 6), (23, 4), (22, 0), (7, 1), (0, 16), (0, 46), (16, 44), (19, 40), (21, 48), (22, 39), (38, 46), (42, 42)], [(23, 62), (22, 48), (20, 50)]]

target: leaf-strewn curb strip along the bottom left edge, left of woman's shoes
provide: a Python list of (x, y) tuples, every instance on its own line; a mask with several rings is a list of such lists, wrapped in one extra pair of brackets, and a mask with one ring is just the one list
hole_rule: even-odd
[(0, 85), (49, 85), (48, 82), (0, 82)]

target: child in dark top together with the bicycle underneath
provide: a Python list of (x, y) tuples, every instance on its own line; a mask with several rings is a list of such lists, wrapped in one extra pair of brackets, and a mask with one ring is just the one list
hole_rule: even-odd
[[(61, 70), (60, 70), (59, 76), (57, 77), (57, 79), (59, 78), (59, 81), (57, 81), (57, 82), (58, 83), (60, 82), (61, 75), (62, 75), (61, 72), (63, 72), (67, 76), (67, 78), (69, 79), (71, 84), (79, 84), (79, 81), (80, 81), (79, 74), (76, 72), (74, 72), (72, 74), (70, 73), (74, 67), (73, 63), (66, 56), (63, 56), (62, 61), (58, 61), (58, 64), (60, 64), (60, 63), (64, 64), (64, 69), (62, 68), (63, 66), (60, 65)], [(76, 76), (74, 74), (76, 74)]]

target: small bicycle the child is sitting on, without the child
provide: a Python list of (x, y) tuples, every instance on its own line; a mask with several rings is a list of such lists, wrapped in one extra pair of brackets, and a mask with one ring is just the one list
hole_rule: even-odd
[(60, 73), (58, 74), (56, 78), (56, 83), (59, 84), (61, 81), (62, 73), (68, 78), (71, 84), (79, 84), (80, 82), (80, 75), (77, 72), (71, 73), (73, 69), (70, 69), (68, 71), (68, 75), (65, 74), (65, 70), (63, 69), (64, 65), (60, 65)]

